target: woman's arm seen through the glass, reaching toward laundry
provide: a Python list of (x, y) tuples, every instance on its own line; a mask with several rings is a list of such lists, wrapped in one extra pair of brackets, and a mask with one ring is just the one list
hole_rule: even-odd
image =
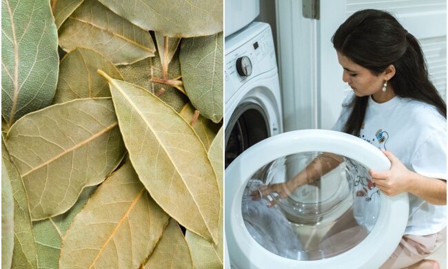
[[(327, 174), (334, 168), (338, 167), (340, 163), (344, 161), (343, 157), (335, 155), (333, 153), (324, 152), (314, 159), (309, 165), (299, 172), (295, 177), (289, 179), (284, 183), (269, 184), (267, 186), (261, 186), (259, 192), (253, 192), (252, 199), (260, 199), (261, 196), (266, 196), (272, 192), (278, 193), (279, 198), (287, 197), (296, 188), (305, 184), (312, 183), (317, 179), (320, 179), (323, 175)], [(268, 206), (274, 206), (274, 201), (268, 203)]]

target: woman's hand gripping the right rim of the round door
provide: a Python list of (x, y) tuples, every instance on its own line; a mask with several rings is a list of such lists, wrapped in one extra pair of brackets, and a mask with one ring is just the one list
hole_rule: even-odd
[(383, 153), (391, 161), (391, 168), (388, 171), (369, 170), (369, 175), (372, 177), (376, 187), (388, 196), (409, 192), (411, 171), (392, 152), (383, 150)]

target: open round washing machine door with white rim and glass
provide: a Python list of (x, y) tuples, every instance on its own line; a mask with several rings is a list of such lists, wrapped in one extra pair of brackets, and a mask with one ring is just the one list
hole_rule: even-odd
[[(388, 197), (368, 175), (389, 168), (378, 148), (342, 132), (286, 132), (252, 146), (225, 170), (232, 268), (379, 268), (409, 215), (406, 193)], [(289, 188), (301, 171), (318, 177)]]

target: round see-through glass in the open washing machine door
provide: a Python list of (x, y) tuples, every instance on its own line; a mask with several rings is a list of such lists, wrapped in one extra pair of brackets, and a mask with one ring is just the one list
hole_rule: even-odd
[(247, 231), (269, 252), (315, 261), (350, 250), (369, 235), (380, 191), (353, 159), (301, 152), (256, 171), (245, 186), (241, 212)]

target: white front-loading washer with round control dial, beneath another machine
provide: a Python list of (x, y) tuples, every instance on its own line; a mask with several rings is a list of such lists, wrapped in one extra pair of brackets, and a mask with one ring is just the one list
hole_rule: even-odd
[(255, 143), (282, 131), (274, 41), (252, 22), (225, 38), (225, 167)]

